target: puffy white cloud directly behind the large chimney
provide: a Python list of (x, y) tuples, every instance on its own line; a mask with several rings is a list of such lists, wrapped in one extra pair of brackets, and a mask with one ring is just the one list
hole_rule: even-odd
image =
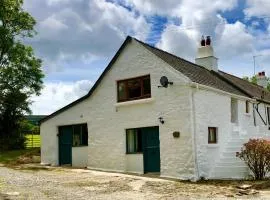
[[(194, 61), (201, 35), (210, 35), (214, 45), (224, 34), (226, 20), (218, 12), (233, 9), (236, 0), (188, 1), (174, 11), (181, 19), (180, 25), (169, 24), (161, 35), (158, 47), (190, 61)], [(192, 14), (191, 14), (192, 13)], [(228, 30), (226, 30), (228, 32)], [(230, 30), (229, 30), (230, 31)], [(224, 51), (226, 52), (226, 51)]]

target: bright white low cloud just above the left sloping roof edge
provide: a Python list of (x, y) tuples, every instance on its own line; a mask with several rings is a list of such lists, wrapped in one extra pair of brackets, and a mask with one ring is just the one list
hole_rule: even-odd
[(31, 110), (34, 114), (50, 114), (66, 106), (89, 92), (92, 82), (81, 80), (77, 82), (45, 83), (40, 96), (31, 98)]

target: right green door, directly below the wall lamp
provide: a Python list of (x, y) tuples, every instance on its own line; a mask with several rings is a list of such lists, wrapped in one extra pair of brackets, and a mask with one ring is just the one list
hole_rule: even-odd
[(144, 172), (160, 172), (158, 127), (142, 128)]

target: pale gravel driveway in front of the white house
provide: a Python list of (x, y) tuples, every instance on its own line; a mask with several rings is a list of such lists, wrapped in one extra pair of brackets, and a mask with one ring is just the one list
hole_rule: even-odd
[(235, 196), (228, 184), (195, 184), (84, 169), (0, 167), (0, 199), (270, 199)]

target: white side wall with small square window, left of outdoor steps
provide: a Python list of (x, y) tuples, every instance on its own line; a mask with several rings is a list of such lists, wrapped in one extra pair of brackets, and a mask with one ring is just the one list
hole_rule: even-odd
[[(208, 178), (230, 134), (231, 98), (197, 89), (194, 93), (198, 176)], [(208, 144), (208, 127), (218, 128), (218, 145)]]

